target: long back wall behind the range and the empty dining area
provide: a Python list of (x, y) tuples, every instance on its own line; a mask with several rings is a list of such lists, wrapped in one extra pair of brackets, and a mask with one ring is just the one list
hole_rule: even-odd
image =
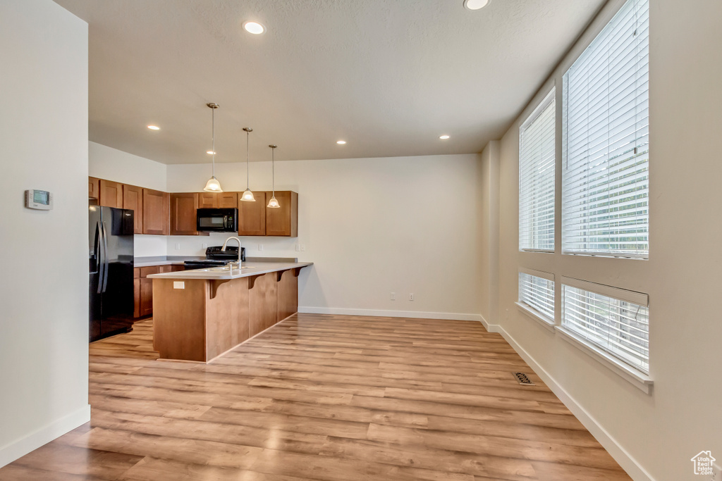
[[(277, 190), (298, 193), (299, 237), (241, 240), (249, 256), (315, 262), (300, 280), (308, 312), (479, 319), (478, 166), (475, 154), (277, 162)], [(210, 174), (209, 164), (169, 165), (168, 190), (199, 191)], [(245, 190), (245, 164), (216, 175), (224, 190)], [(251, 163), (251, 188), (271, 190), (270, 162)], [(202, 255), (225, 237), (169, 237), (168, 255)]]

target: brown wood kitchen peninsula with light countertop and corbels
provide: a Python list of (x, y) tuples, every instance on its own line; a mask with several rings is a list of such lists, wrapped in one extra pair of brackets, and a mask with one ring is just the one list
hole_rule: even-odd
[(244, 262), (149, 275), (153, 348), (209, 362), (297, 312), (298, 275), (313, 262)]

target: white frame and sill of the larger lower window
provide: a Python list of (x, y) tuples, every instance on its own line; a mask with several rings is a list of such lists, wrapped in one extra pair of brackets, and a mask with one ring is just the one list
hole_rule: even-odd
[[(627, 291), (626, 289), (606, 286), (604, 284), (598, 284), (589, 281), (583, 281), (581, 279), (569, 278), (563, 275), (560, 279), (560, 283), (560, 288), (562, 288), (562, 291), (564, 289), (564, 286), (570, 286), (574, 288), (580, 288), (584, 291), (589, 291), (595, 294), (612, 297), (614, 299), (631, 302), (632, 304), (638, 304), (640, 306), (647, 307), (649, 306), (649, 296), (640, 292)], [(586, 353), (588, 356), (596, 359), (596, 361), (599, 361), (599, 363), (611, 369), (619, 376), (622, 376), (623, 379), (629, 381), (635, 387), (641, 389), (643, 392), (646, 392), (647, 394), (651, 392), (652, 386), (654, 384), (651, 374), (645, 373), (640, 369), (636, 369), (634, 366), (631, 366), (630, 364), (625, 363), (616, 356), (608, 353), (606, 350), (604, 350), (604, 348), (601, 348), (598, 345), (591, 343), (591, 341), (586, 340), (584, 337), (578, 335), (573, 330), (567, 329), (563, 325), (565, 309), (566, 302), (564, 299), (564, 295), (562, 294), (562, 324), (556, 326), (556, 331), (562, 335), (563, 340), (567, 341), (567, 343), (570, 343), (575, 348), (578, 348), (583, 353)]]

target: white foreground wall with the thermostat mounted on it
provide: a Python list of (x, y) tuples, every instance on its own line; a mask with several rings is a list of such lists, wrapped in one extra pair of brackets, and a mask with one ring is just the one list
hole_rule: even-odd
[[(87, 24), (0, 2), (0, 466), (90, 420)], [(24, 208), (50, 190), (52, 211)]]

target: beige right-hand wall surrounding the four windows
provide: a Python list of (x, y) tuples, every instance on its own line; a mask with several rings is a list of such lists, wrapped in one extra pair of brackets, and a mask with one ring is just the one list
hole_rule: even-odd
[[(518, 252), (518, 125), (621, 1), (611, 1), (591, 30), (505, 134), (500, 153), (500, 325), (562, 400), (635, 480), (695, 480), (690, 458), (722, 459), (722, 3), (651, 1), (651, 180), (649, 260)], [(557, 132), (561, 131), (557, 115)], [(560, 159), (561, 142), (557, 142)], [(560, 195), (557, 168), (557, 199)], [(557, 201), (557, 219), (560, 219)], [(652, 394), (632, 386), (586, 353), (520, 314), (519, 266), (650, 296)], [(557, 296), (557, 305), (559, 303)], [(493, 326), (492, 326), (493, 328)]]

